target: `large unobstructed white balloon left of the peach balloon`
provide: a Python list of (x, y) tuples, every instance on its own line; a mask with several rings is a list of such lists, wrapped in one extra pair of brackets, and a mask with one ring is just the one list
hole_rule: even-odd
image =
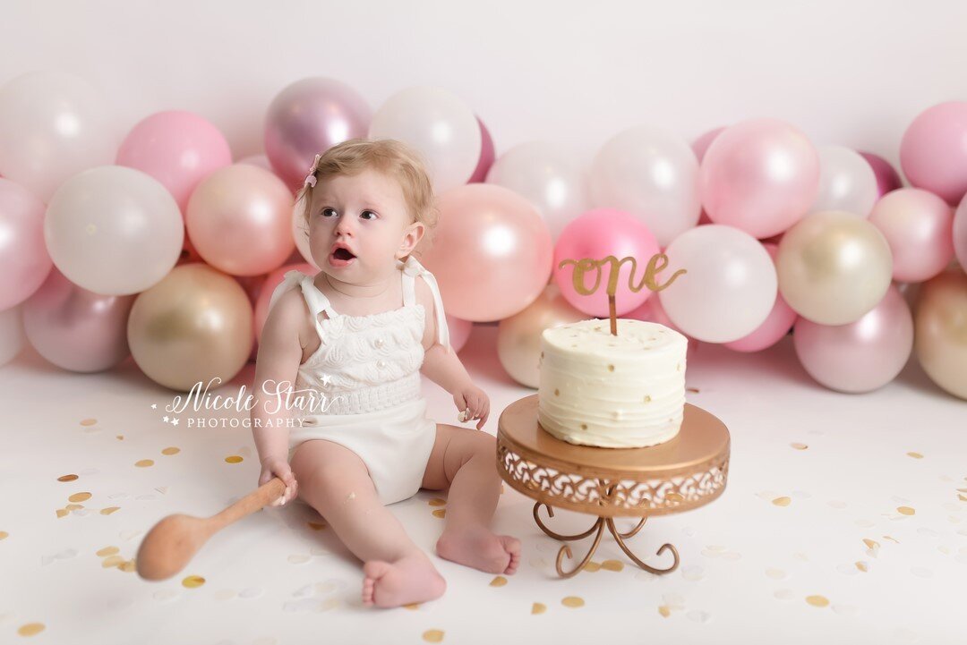
[(75, 285), (129, 295), (154, 286), (175, 266), (185, 225), (161, 182), (133, 168), (101, 166), (57, 189), (44, 217), (44, 240), (54, 265)]

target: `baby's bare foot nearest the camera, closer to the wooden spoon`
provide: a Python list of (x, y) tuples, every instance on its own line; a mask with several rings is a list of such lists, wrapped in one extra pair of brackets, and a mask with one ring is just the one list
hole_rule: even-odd
[(423, 603), (443, 596), (447, 582), (438, 574), (423, 551), (415, 551), (396, 562), (369, 560), (363, 565), (363, 604), (397, 607)]

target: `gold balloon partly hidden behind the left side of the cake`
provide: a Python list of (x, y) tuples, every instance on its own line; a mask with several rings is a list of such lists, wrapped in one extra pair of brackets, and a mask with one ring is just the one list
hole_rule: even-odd
[(564, 299), (556, 284), (547, 285), (526, 309), (497, 323), (497, 357), (512, 379), (537, 389), (543, 330), (588, 318)]

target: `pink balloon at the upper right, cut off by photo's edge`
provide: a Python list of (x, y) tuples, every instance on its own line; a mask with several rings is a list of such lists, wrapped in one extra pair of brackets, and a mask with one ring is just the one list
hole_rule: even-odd
[(967, 193), (967, 102), (928, 107), (900, 140), (900, 167), (918, 188), (956, 206)]

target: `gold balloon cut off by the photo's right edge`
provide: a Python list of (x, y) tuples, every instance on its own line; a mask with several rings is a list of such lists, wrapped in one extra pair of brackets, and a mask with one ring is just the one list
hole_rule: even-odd
[(923, 283), (915, 315), (915, 351), (923, 371), (967, 399), (967, 275), (949, 268)]

